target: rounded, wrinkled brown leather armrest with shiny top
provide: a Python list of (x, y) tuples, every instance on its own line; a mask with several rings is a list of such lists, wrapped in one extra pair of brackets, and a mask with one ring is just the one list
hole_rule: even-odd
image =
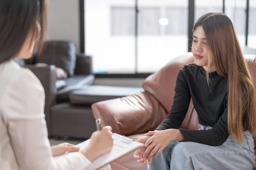
[(125, 136), (154, 130), (167, 115), (148, 92), (97, 102), (92, 110), (94, 118), (102, 120), (102, 126), (109, 125), (113, 133)]

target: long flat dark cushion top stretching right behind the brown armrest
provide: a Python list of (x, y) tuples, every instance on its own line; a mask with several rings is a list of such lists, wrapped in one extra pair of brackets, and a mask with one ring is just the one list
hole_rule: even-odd
[(70, 93), (72, 104), (90, 105), (96, 102), (130, 96), (144, 91), (143, 88), (91, 85)]

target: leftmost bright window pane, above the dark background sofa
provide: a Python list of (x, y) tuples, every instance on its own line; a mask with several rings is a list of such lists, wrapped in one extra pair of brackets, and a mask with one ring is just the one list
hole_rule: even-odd
[(134, 0), (85, 0), (85, 51), (95, 73), (135, 73), (134, 6)]

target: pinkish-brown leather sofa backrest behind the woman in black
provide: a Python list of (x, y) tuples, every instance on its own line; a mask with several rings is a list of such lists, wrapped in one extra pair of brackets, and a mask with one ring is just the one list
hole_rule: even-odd
[[(254, 89), (256, 90), (256, 56), (244, 55), (249, 68), (252, 72)], [(166, 115), (172, 108), (173, 97), (175, 94), (174, 88), (178, 71), (183, 65), (189, 64), (193, 61), (192, 53), (187, 53), (176, 57), (169, 63), (167, 63), (159, 71), (151, 74), (143, 82), (143, 88), (148, 93), (152, 94), (166, 110)], [(256, 97), (256, 96), (255, 96)], [(186, 118), (181, 125), (181, 128), (189, 130), (198, 130), (200, 125), (198, 124), (198, 116), (192, 104), (189, 105), (189, 110), (186, 114)]]

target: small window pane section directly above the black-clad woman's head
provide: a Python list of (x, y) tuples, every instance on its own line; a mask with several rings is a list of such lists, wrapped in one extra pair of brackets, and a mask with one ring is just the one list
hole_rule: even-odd
[(195, 22), (208, 12), (222, 12), (223, 0), (195, 0)]

